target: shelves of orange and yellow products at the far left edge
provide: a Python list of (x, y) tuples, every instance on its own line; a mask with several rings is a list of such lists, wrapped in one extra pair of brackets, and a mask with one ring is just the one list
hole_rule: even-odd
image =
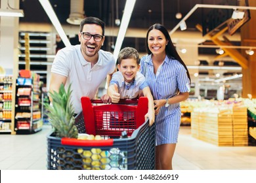
[(0, 133), (11, 133), (12, 76), (0, 76)]

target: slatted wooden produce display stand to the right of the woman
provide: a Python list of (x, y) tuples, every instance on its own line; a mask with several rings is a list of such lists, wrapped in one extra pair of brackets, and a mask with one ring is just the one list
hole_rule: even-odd
[(247, 146), (247, 108), (192, 112), (192, 137), (217, 146)]

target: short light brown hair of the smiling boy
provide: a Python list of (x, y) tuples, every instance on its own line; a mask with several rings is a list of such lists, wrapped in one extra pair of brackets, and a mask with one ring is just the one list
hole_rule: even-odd
[(125, 47), (121, 49), (118, 54), (118, 64), (121, 64), (122, 59), (133, 58), (136, 59), (137, 64), (140, 64), (140, 56), (138, 51), (132, 47)]

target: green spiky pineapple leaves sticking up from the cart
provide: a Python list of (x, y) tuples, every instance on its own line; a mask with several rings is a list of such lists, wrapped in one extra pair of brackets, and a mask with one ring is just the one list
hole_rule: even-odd
[(70, 86), (66, 91), (64, 84), (61, 84), (58, 92), (50, 92), (53, 105), (45, 104), (56, 137), (77, 139), (78, 131), (75, 126), (74, 108), (70, 101), (71, 93)]

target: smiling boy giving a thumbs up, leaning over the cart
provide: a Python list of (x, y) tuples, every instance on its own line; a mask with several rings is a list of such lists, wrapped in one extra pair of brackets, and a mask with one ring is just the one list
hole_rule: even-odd
[(112, 76), (108, 95), (112, 103), (118, 103), (119, 99), (135, 99), (142, 92), (148, 98), (148, 113), (145, 115), (145, 120), (149, 118), (149, 124), (152, 125), (155, 120), (153, 97), (145, 77), (139, 72), (139, 63), (139, 53), (135, 48), (126, 47), (119, 52), (117, 65), (119, 71)]

